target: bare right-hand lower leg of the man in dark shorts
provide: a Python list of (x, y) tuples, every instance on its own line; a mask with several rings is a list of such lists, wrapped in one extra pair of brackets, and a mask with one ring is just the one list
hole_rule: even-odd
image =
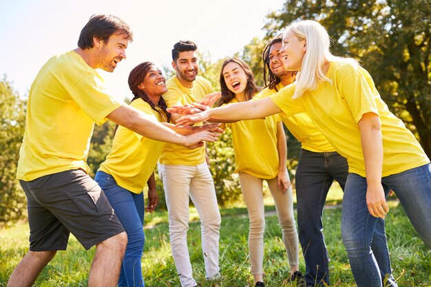
[(96, 245), (96, 255), (88, 276), (89, 287), (117, 286), (126, 246), (125, 232)]

